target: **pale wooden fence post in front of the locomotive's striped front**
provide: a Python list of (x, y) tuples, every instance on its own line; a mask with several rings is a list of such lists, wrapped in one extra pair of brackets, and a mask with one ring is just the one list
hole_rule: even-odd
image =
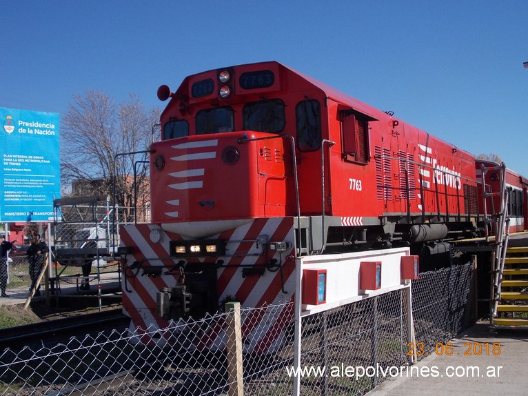
[(228, 313), (225, 321), (227, 328), (227, 379), (229, 381), (229, 396), (244, 395), (243, 365), (242, 365), (242, 326), (240, 303), (230, 301), (225, 303)]

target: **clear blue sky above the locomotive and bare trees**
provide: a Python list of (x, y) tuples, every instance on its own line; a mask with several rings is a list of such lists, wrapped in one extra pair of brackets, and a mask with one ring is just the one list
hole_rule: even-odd
[(0, 107), (63, 114), (276, 60), (528, 177), (528, 1), (27, 1), (0, 8)]

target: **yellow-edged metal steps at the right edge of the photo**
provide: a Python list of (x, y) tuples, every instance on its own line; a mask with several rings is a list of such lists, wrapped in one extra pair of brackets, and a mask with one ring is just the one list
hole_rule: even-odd
[(528, 246), (506, 250), (495, 328), (528, 328)]

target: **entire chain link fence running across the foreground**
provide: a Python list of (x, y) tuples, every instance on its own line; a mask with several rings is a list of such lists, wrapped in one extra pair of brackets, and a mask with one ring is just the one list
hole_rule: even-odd
[[(470, 323), (473, 274), (469, 263), (412, 281), (415, 339), (427, 350)], [(301, 395), (363, 395), (411, 362), (407, 293), (303, 317), (297, 371), (288, 302), (4, 350), (0, 395), (292, 395), (294, 377)]]

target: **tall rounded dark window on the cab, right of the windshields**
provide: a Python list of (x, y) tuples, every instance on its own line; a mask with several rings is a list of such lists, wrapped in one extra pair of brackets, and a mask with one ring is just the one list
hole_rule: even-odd
[(314, 99), (297, 103), (296, 109), (297, 148), (314, 151), (321, 148), (321, 104)]

